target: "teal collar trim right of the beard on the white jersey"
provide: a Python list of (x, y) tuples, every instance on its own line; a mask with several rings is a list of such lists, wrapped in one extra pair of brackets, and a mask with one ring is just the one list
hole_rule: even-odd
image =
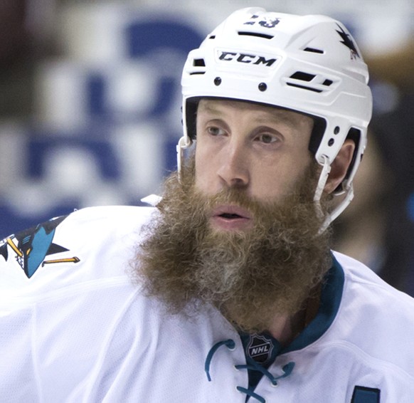
[(311, 323), (280, 354), (301, 350), (319, 339), (334, 322), (344, 291), (344, 269), (332, 255), (333, 264), (322, 286), (319, 310)]

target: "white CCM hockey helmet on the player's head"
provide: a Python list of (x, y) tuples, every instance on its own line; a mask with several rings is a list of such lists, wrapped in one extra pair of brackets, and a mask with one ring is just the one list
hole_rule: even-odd
[(273, 105), (314, 117), (309, 150), (322, 169), (314, 200), (319, 205), (346, 138), (356, 142), (351, 167), (336, 194), (346, 193), (325, 226), (353, 197), (352, 179), (366, 146), (372, 96), (368, 69), (349, 31), (327, 16), (296, 16), (261, 8), (235, 11), (189, 53), (181, 79), (182, 150), (196, 138), (200, 98)]

